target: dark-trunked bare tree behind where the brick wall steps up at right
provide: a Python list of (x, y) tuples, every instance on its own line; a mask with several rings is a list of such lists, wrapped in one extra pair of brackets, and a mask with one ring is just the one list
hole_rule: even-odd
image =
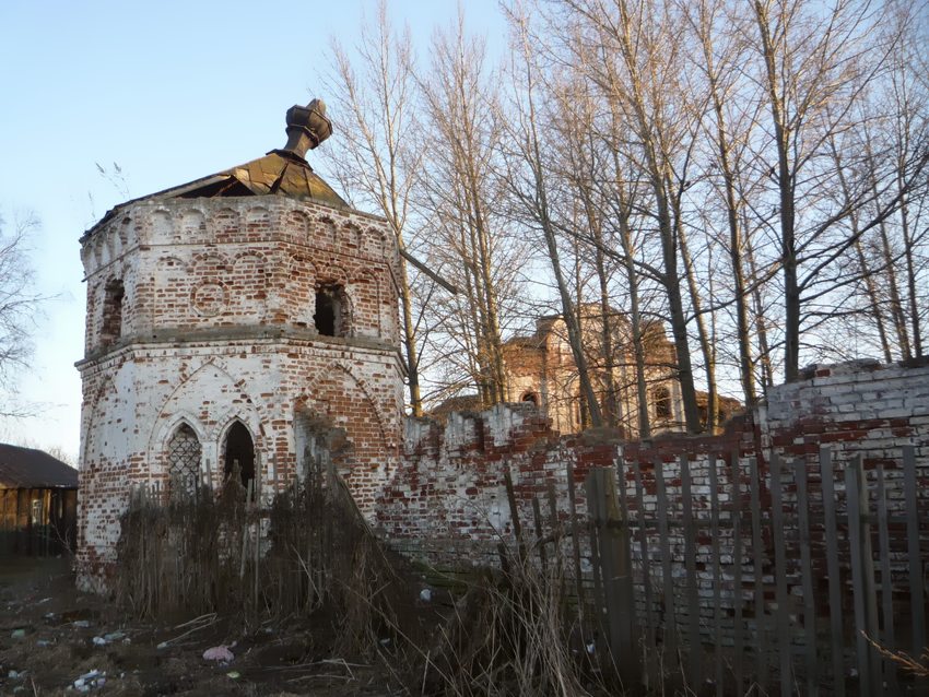
[[(837, 0), (830, 7), (799, 0), (754, 0), (755, 50), (771, 118), (771, 178), (777, 191), (778, 262), (784, 279), (784, 376), (798, 377), (804, 306), (815, 327), (831, 308), (816, 307), (840, 282), (823, 272), (854, 247), (847, 234), (852, 209), (874, 201), (872, 191), (851, 182), (845, 205), (823, 211), (816, 203), (836, 188), (834, 166), (824, 166), (831, 134), (854, 127), (865, 91), (884, 66), (886, 43), (879, 40), (879, 10)], [(849, 163), (843, 166), (848, 170)], [(881, 206), (859, 224), (858, 235), (895, 208)], [(805, 268), (804, 268), (805, 267)], [(832, 310), (834, 312), (834, 308)]]

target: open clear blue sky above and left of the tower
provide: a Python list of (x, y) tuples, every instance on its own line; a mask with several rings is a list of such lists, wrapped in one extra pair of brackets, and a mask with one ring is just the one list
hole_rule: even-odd
[[(469, 28), (499, 49), (496, 0), (461, 4)], [(409, 23), (421, 58), (433, 29), (458, 12), (455, 0), (388, 8), (396, 25)], [(95, 163), (118, 163), (134, 198), (280, 147), (287, 107), (327, 96), (315, 85), (330, 36), (351, 48), (362, 14), (375, 12), (363, 0), (0, 0), (0, 213), (8, 224), (17, 213), (38, 216), (36, 281), (55, 296), (36, 318), (33, 369), (21, 379), (23, 395), (47, 407), (0, 421), (0, 440), (78, 453), (78, 238), (125, 198)]]

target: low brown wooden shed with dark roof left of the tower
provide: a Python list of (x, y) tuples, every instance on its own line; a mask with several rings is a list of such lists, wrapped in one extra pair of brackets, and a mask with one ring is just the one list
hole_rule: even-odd
[(42, 450), (0, 444), (0, 555), (73, 551), (78, 470)]

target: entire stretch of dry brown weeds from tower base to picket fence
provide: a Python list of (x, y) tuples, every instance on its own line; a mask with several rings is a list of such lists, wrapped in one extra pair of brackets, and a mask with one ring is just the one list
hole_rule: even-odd
[(581, 639), (565, 559), (543, 568), (501, 547), (504, 571), (478, 575), (444, 621), (435, 604), (411, 613), (413, 575), (368, 530), (344, 484), (321, 479), (263, 511), (234, 489), (167, 505), (138, 494), (118, 546), (120, 602), (138, 617), (305, 617), (330, 628), (329, 655), (379, 658), (407, 694), (621, 694)]

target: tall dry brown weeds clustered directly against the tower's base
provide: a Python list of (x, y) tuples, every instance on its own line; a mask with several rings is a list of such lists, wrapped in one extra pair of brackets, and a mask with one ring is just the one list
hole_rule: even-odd
[(392, 624), (400, 583), (344, 484), (319, 480), (264, 509), (234, 485), (170, 503), (138, 492), (121, 521), (118, 602), (138, 618), (328, 616), (339, 651), (368, 650)]

